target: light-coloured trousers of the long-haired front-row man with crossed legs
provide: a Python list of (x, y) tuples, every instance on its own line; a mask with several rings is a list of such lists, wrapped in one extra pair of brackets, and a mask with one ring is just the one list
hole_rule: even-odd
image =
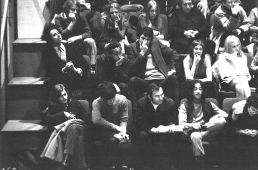
[(210, 125), (207, 126), (207, 131), (193, 132), (190, 135), (192, 142), (192, 152), (194, 156), (204, 155), (204, 149), (201, 141), (212, 139), (219, 131), (224, 127), (226, 120), (222, 117), (217, 118), (216, 116), (210, 118)]

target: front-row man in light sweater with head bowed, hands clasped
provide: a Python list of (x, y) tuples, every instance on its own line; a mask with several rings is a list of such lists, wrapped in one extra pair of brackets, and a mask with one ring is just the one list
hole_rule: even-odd
[[(107, 143), (107, 163), (110, 168), (125, 166), (131, 142), (126, 134), (128, 122), (127, 101), (116, 94), (111, 82), (98, 85), (100, 97), (92, 103), (94, 139)], [(115, 160), (118, 160), (115, 162)]]

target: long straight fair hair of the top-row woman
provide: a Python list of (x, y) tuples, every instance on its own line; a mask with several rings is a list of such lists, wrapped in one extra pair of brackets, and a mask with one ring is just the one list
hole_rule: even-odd
[(152, 24), (151, 19), (150, 19), (150, 9), (152, 7), (156, 7), (157, 8), (157, 16), (154, 19), (154, 25), (153, 26), (155, 26), (158, 30), (160, 30), (163, 25), (161, 24), (159, 5), (158, 5), (158, 3), (155, 0), (150, 0), (147, 3), (146, 17), (147, 17), (147, 19), (149, 21), (149, 24)]

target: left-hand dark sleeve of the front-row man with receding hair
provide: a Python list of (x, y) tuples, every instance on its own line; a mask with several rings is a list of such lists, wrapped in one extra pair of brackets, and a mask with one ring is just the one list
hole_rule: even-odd
[(150, 123), (146, 119), (145, 111), (142, 108), (141, 104), (137, 102), (137, 110), (136, 110), (136, 124), (140, 131), (148, 132), (153, 128)]

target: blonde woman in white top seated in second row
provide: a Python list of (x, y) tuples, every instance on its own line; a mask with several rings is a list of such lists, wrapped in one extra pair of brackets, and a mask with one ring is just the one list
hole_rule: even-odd
[(219, 72), (221, 90), (236, 91), (236, 97), (249, 97), (248, 80), (251, 77), (247, 67), (247, 58), (241, 51), (240, 40), (234, 35), (229, 35), (225, 39), (224, 51), (212, 66)]

